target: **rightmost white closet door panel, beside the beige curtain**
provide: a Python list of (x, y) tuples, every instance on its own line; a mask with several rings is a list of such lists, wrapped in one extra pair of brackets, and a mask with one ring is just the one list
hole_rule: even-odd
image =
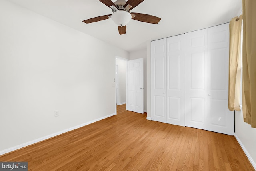
[(207, 130), (234, 135), (234, 111), (228, 110), (229, 25), (208, 28)]

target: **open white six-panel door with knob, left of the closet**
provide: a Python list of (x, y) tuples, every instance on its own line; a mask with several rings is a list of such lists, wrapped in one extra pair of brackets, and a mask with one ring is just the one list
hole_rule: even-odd
[(126, 110), (144, 113), (143, 58), (127, 62)]

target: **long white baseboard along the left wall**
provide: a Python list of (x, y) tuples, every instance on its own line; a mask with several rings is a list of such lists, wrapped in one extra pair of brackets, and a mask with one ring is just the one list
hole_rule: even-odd
[(28, 145), (32, 145), (32, 144), (34, 144), (34, 143), (38, 143), (38, 142), (40, 142), (40, 141), (44, 141), (44, 140), (46, 140), (46, 139), (55, 137), (55, 136), (60, 135), (60, 134), (62, 134), (62, 133), (66, 133), (66, 132), (68, 132), (68, 131), (72, 131), (72, 130), (74, 130), (74, 129), (78, 129), (78, 128), (80, 128), (80, 127), (84, 127), (84, 126), (86, 126), (86, 125), (89, 125), (89, 124), (91, 124), (91, 123), (100, 121), (100, 120), (102, 120), (102, 119), (106, 119), (106, 118), (111, 117), (111, 116), (114, 116), (114, 115), (116, 115), (116, 113), (113, 113), (113, 114), (111, 114), (111, 115), (107, 115), (107, 116), (101, 117), (101, 118), (99, 118), (99, 119), (95, 119), (95, 120), (93, 120), (93, 121), (89, 121), (89, 122), (83, 123), (83, 124), (81, 124), (81, 125), (74, 126), (74, 127), (71, 127), (71, 128), (68, 128), (68, 129), (65, 129), (65, 130), (56, 132), (56, 133), (53, 133), (53, 134), (51, 134), (51, 135), (47, 135), (47, 136), (44, 136), (44, 137), (41, 137), (41, 138), (38, 138), (38, 139), (34, 139), (34, 140), (32, 140), (32, 141), (29, 141), (29, 142), (26, 142), (26, 143), (23, 143), (23, 144), (20, 144), (20, 145), (16, 145), (16, 146), (10, 147), (10, 148), (8, 148), (8, 149), (4, 149), (4, 150), (0, 151), (0, 155), (6, 154), (6, 153), (10, 153), (10, 152), (15, 151), (15, 150), (17, 150), (17, 149), (21, 149), (21, 148), (26, 147), (26, 146), (28, 146)]

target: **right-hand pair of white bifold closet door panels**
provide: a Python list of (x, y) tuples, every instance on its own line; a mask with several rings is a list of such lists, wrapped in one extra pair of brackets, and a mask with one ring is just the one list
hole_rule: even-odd
[(228, 110), (229, 25), (186, 34), (185, 125), (234, 135)]

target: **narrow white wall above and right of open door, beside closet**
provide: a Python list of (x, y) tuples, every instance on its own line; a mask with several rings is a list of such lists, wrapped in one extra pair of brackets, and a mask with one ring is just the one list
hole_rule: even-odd
[(143, 72), (144, 72), (144, 111), (147, 111), (147, 50), (137, 50), (130, 52), (129, 60), (143, 58)]

